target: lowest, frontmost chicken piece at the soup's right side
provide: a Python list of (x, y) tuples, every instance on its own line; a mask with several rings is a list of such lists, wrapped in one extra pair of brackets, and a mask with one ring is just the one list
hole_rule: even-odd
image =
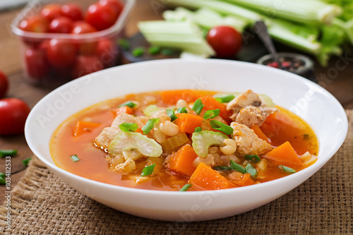
[(237, 143), (237, 152), (241, 155), (264, 155), (273, 150), (273, 147), (265, 140), (258, 138), (251, 128), (236, 122), (232, 122), (232, 138)]

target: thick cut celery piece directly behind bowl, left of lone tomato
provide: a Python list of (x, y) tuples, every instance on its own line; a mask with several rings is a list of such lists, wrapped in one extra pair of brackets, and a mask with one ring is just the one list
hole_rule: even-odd
[(201, 30), (189, 21), (143, 21), (138, 23), (138, 28), (150, 44), (181, 49), (204, 56), (215, 54), (212, 47), (203, 38)]

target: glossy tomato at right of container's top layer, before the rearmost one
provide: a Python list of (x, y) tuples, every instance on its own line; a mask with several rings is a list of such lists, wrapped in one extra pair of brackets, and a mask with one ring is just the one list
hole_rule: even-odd
[(105, 30), (114, 25), (118, 14), (114, 8), (101, 4), (92, 4), (88, 7), (85, 20), (97, 30)]

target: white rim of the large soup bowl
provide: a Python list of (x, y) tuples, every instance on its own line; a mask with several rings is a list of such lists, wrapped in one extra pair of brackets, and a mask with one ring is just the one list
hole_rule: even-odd
[[(321, 92), (323, 92), (325, 95), (327, 95), (328, 97), (330, 97), (331, 100), (333, 100), (333, 102), (336, 103), (336, 105), (338, 105), (340, 107), (340, 112), (343, 117), (345, 117), (344, 119), (342, 119), (343, 121), (343, 126), (344, 129), (341, 130), (342, 131), (342, 139), (337, 143), (337, 145), (333, 148), (333, 150), (331, 150), (328, 153), (325, 153), (325, 158), (320, 160), (318, 159), (317, 162), (315, 162), (314, 164), (312, 164), (309, 167), (306, 167), (305, 169), (302, 169), (301, 171), (296, 172), (295, 174), (289, 174), (288, 176), (282, 177), (280, 179), (275, 179), (272, 181), (267, 181), (267, 182), (263, 182), (263, 183), (258, 183), (255, 185), (251, 185), (251, 186), (242, 186), (242, 187), (237, 187), (237, 188), (227, 188), (227, 189), (219, 189), (216, 190), (217, 192), (222, 192), (222, 193), (235, 193), (235, 192), (241, 192), (241, 191), (248, 191), (250, 189), (256, 189), (256, 188), (263, 188), (263, 187), (268, 187), (271, 186), (273, 184), (280, 184), (282, 181), (290, 181), (291, 179), (295, 179), (297, 177), (300, 177), (301, 175), (304, 174), (310, 174), (310, 176), (312, 174), (315, 174), (316, 171), (318, 171), (319, 169), (321, 169), (321, 167), (323, 167), (323, 165), (328, 162), (333, 155), (335, 155), (335, 153), (337, 152), (337, 150), (342, 146), (342, 143), (345, 141), (345, 138), (347, 137), (347, 131), (348, 131), (348, 119), (347, 119), (347, 115), (345, 114), (345, 109), (343, 109), (342, 105), (340, 104), (340, 102), (338, 102), (338, 100), (327, 90), (325, 90), (324, 88), (322, 88), (320, 85), (311, 82), (310, 80), (307, 80), (306, 78), (302, 78), (301, 76), (298, 76), (294, 73), (290, 73), (288, 71), (282, 71), (279, 70), (277, 68), (272, 68), (269, 66), (263, 66), (261, 64), (253, 64), (253, 63), (249, 63), (249, 62), (244, 62), (244, 61), (229, 61), (226, 59), (193, 59), (191, 60), (186, 60), (186, 59), (160, 59), (160, 60), (153, 60), (153, 61), (143, 61), (143, 62), (138, 62), (138, 63), (133, 63), (133, 64), (126, 64), (123, 66), (116, 66), (116, 67), (112, 67), (112, 68), (107, 68), (104, 69), (103, 71), (98, 71), (95, 72), (95, 74), (97, 73), (109, 73), (109, 71), (111, 70), (119, 70), (122, 68), (128, 68), (128, 67), (139, 67), (139, 66), (146, 66), (149, 64), (174, 64), (174, 63), (211, 63), (211, 64), (217, 64), (217, 63), (232, 63), (232, 64), (239, 64), (241, 66), (249, 66), (249, 67), (258, 67), (259, 69), (263, 69), (263, 70), (270, 70), (273, 71), (273, 73), (282, 73), (283, 76), (290, 76), (292, 77), (291, 79), (294, 80), (298, 80), (301, 83), (309, 83), (311, 86), (314, 86), (316, 89), (320, 90)], [(138, 69), (138, 68), (135, 68)], [(99, 76), (95, 76), (95, 78), (97, 78)], [(71, 80), (70, 82), (61, 85), (59, 88), (56, 88), (55, 90), (52, 90), (52, 92), (49, 92), (49, 94), (45, 95), (42, 100), (40, 100), (39, 102), (37, 102), (37, 104), (35, 104), (35, 107), (32, 108), (30, 114), (28, 115), (28, 119), (25, 123), (25, 139), (28, 143), (28, 146), (30, 147), (30, 149), (32, 150), (33, 154), (35, 156), (37, 156), (38, 159), (40, 159), (41, 162), (43, 162), (44, 164), (47, 165), (47, 167), (49, 167), (50, 169), (53, 169), (54, 171), (59, 171), (60, 174), (66, 174), (69, 177), (73, 177), (74, 179), (78, 180), (78, 181), (84, 181), (85, 183), (92, 183), (95, 186), (98, 187), (103, 187), (103, 188), (109, 188), (109, 189), (115, 189), (115, 190), (122, 190), (122, 191), (126, 191), (129, 193), (148, 193), (148, 194), (157, 194), (157, 195), (178, 195), (181, 197), (186, 197), (186, 196), (190, 196), (190, 195), (198, 195), (202, 192), (205, 191), (185, 191), (184, 193), (179, 193), (179, 191), (159, 191), (159, 190), (152, 190), (152, 189), (142, 189), (142, 188), (129, 188), (129, 187), (125, 187), (125, 186), (116, 186), (116, 185), (112, 185), (109, 183), (102, 183), (100, 181), (95, 181), (92, 179), (86, 179), (83, 176), (78, 176), (76, 174), (73, 174), (69, 171), (66, 171), (64, 169), (61, 169), (60, 167), (56, 166), (56, 164), (49, 162), (47, 159), (45, 159), (45, 157), (42, 157), (41, 153), (39, 152), (39, 150), (37, 150), (37, 147), (32, 146), (32, 143), (30, 143), (30, 134), (29, 134), (29, 128), (30, 128), (30, 121), (32, 119), (34, 119), (35, 116), (35, 111), (37, 109), (39, 109), (39, 107), (41, 107), (42, 105), (45, 104), (45, 102), (47, 102), (47, 98), (51, 97), (53, 95), (55, 95), (56, 92), (60, 91), (60, 90), (64, 90), (66, 88), (68, 88), (69, 86), (73, 85), (74, 83), (80, 83), (81, 80), (85, 80), (85, 79), (95, 79), (95, 78), (91, 78), (90, 75), (87, 76), (83, 76), (81, 78), (77, 78), (76, 80)], [(320, 145), (320, 143), (319, 143)], [(320, 155), (320, 152), (319, 152)], [(50, 156), (52, 157), (52, 156)], [(313, 171), (312, 173), (310, 173), (310, 171)], [(306, 179), (309, 179), (310, 177), (307, 177)]]

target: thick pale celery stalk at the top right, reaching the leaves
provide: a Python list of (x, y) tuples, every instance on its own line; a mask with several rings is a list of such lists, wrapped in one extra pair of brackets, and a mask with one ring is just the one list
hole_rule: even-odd
[[(225, 0), (220, 0), (225, 1)], [(318, 0), (227, 0), (234, 4), (252, 8), (268, 17), (285, 18), (308, 25), (330, 24), (335, 16), (342, 13), (342, 8), (337, 5), (327, 4)]]

